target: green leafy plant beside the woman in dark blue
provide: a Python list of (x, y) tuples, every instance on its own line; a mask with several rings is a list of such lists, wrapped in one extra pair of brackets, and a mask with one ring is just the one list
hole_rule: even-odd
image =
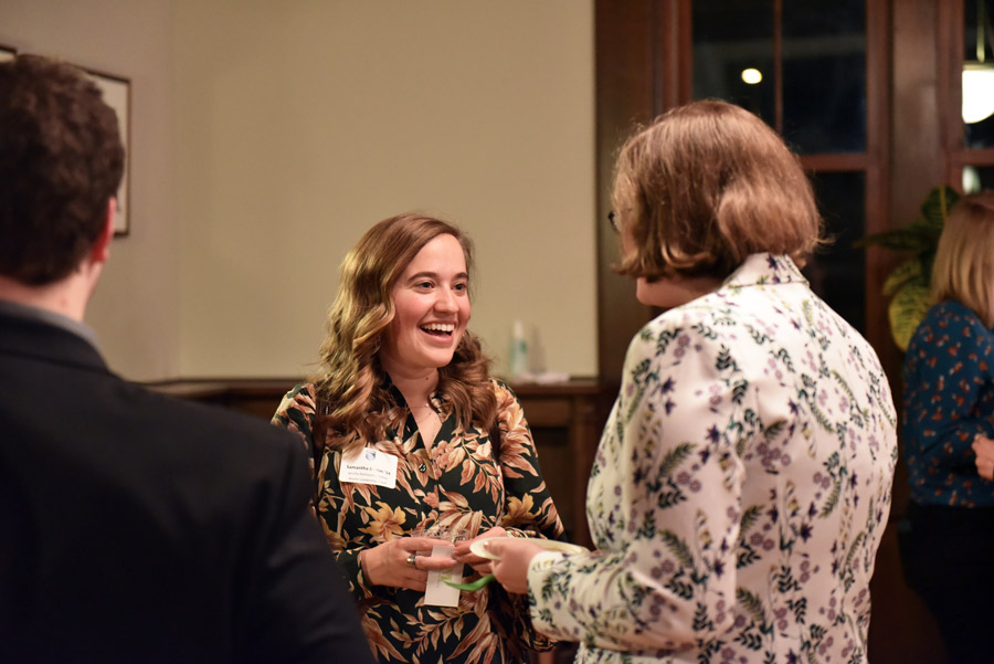
[(929, 284), (935, 247), (949, 210), (959, 199), (960, 194), (951, 187), (934, 187), (921, 205), (921, 214), (910, 223), (867, 235), (854, 243), (857, 247), (882, 246), (911, 254), (893, 268), (882, 288), (884, 295), (890, 297), (887, 308), (890, 333), (902, 351), (908, 350), (911, 335), (929, 310)]

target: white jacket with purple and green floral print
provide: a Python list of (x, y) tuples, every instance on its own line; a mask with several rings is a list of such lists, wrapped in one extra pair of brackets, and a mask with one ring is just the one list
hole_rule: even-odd
[(578, 662), (866, 662), (895, 428), (869, 344), (790, 259), (750, 256), (632, 340), (598, 551), (536, 557), (535, 626)]

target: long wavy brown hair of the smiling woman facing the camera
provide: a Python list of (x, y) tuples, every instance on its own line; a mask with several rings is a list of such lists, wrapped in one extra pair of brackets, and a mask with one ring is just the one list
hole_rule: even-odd
[[(469, 238), (446, 221), (416, 213), (376, 224), (342, 261), (338, 295), (320, 348), (320, 368), (313, 378), (316, 450), (362, 446), (385, 435), (393, 400), (378, 352), (394, 316), (390, 292), (417, 252), (444, 234), (458, 240), (472, 274)], [(479, 340), (466, 330), (452, 361), (438, 369), (437, 394), (452, 404), (463, 428), (475, 424), (486, 431), (494, 423), (497, 398), (489, 366)]]

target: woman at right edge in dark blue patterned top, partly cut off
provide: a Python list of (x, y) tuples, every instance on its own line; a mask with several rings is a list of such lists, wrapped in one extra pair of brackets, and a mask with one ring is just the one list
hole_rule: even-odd
[(932, 301), (905, 356), (906, 573), (952, 664), (991, 661), (994, 624), (994, 192), (950, 211)]

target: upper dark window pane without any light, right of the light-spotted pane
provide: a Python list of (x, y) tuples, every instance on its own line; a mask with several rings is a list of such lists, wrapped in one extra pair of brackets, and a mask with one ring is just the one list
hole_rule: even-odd
[(802, 154), (866, 150), (865, 0), (783, 3), (783, 134)]

